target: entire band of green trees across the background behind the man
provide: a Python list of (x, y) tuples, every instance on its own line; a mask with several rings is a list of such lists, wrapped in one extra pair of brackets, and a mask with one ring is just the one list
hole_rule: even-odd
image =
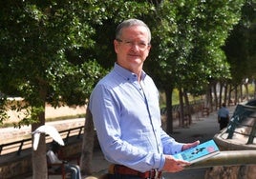
[[(207, 104), (216, 102), (216, 108), (233, 91), (236, 101), (242, 99), (242, 85), (255, 80), (255, 4), (255, 0), (3, 0), (0, 123), (7, 120), (11, 95), (25, 102), (13, 109), (27, 109), (18, 126), (32, 124), (32, 130), (45, 124), (46, 103), (87, 104), (96, 82), (113, 67), (115, 29), (127, 18), (139, 18), (152, 30), (144, 70), (165, 94), (168, 132), (174, 89), (181, 106), (187, 105), (188, 93), (204, 95)], [(217, 95), (223, 89), (224, 99)], [(43, 137), (39, 145), (32, 152), (37, 156), (34, 176), (46, 170), (41, 167), (46, 166)]]

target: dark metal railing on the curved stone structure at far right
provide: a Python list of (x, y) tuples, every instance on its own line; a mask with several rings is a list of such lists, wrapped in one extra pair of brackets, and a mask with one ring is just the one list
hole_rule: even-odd
[(246, 105), (238, 105), (228, 124), (227, 139), (232, 139), (234, 133), (248, 137), (246, 144), (253, 144), (256, 137), (256, 100)]

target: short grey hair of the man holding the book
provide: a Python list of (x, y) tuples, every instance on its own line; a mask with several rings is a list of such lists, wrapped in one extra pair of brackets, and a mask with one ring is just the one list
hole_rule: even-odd
[(124, 28), (129, 28), (132, 26), (142, 26), (145, 27), (146, 30), (148, 31), (148, 40), (149, 43), (151, 41), (151, 31), (149, 30), (148, 26), (141, 20), (139, 19), (127, 19), (122, 21), (118, 26), (117, 26), (117, 30), (116, 30), (116, 39), (119, 39), (122, 33), (122, 29)]

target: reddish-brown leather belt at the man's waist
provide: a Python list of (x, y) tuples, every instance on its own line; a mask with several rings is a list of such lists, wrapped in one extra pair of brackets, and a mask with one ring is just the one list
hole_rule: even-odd
[(123, 174), (123, 175), (135, 175), (139, 176), (141, 179), (160, 179), (161, 178), (161, 171), (158, 169), (152, 169), (146, 172), (140, 172), (136, 169), (130, 169), (125, 166), (121, 165), (110, 165), (109, 167), (110, 174)]

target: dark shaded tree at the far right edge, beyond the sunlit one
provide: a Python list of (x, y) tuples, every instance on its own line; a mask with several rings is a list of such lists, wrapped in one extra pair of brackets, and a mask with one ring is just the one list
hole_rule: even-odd
[[(245, 84), (246, 87), (248, 82), (251, 83), (255, 80), (255, 6), (255, 1), (245, 1), (242, 18), (228, 36), (223, 48), (231, 67), (232, 81), (230, 83), (235, 91), (242, 84)], [(245, 81), (247, 82), (245, 83)], [(235, 98), (235, 103), (237, 101), (238, 99)]]

